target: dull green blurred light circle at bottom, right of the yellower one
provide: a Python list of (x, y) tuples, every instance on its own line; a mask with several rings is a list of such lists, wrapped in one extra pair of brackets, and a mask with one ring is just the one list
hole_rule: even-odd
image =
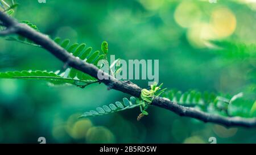
[(92, 127), (86, 133), (87, 143), (115, 143), (115, 136), (106, 127)]

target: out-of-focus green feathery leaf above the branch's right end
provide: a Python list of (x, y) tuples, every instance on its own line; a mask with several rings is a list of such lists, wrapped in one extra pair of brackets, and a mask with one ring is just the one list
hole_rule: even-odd
[[(243, 94), (223, 95), (205, 91), (190, 90), (184, 93), (178, 90), (169, 90), (164, 97), (185, 107), (193, 107), (197, 110), (219, 114), (223, 116), (253, 117), (256, 113), (253, 101), (243, 99)], [(248, 112), (251, 111), (251, 112)]]

